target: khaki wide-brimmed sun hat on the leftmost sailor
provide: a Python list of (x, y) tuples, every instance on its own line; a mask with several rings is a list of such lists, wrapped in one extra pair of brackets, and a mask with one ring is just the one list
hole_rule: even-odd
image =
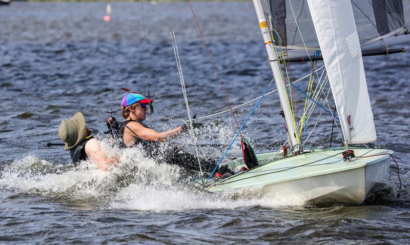
[(58, 136), (66, 142), (65, 150), (78, 146), (87, 137), (86, 120), (81, 112), (74, 114), (71, 119), (64, 119), (60, 123)]

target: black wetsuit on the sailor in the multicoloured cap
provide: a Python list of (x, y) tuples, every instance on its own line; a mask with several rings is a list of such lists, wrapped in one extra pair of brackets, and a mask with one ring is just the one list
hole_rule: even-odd
[[(119, 127), (120, 136), (122, 138), (122, 144), (125, 146), (124, 143), (124, 130), (126, 125), (129, 124), (131, 121), (135, 121), (142, 125), (145, 128), (150, 128), (148, 125), (142, 123), (141, 121), (137, 120), (127, 120), (122, 123)], [(160, 159), (170, 165), (178, 165), (179, 167), (187, 170), (187, 171), (199, 171), (198, 159), (195, 155), (186, 152), (181, 147), (177, 146), (176, 144), (169, 144), (168, 147), (160, 147), (160, 142), (158, 141), (147, 141), (139, 136), (134, 142), (133, 146), (141, 145), (145, 151), (146, 156)], [(211, 159), (200, 159), (201, 167), (203, 172), (212, 172), (216, 166), (215, 161)]]

